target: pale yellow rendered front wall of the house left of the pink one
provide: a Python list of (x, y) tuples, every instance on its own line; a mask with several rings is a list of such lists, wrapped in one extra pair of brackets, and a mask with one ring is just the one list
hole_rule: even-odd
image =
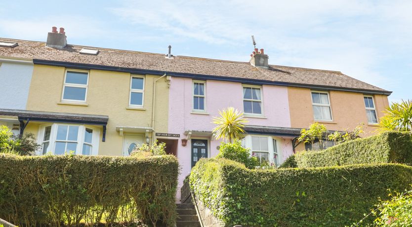
[[(86, 98), (88, 106), (61, 104), (65, 70), (63, 67), (35, 65), (27, 110), (108, 115), (106, 142), (102, 142), (101, 130), (99, 155), (122, 155), (123, 136), (116, 131), (116, 126), (150, 127), (152, 124), (153, 80), (159, 76), (145, 76), (144, 110), (130, 110), (127, 109), (130, 74), (109, 71), (90, 71)], [(155, 128), (165, 132), (168, 126), (168, 88), (165, 80), (160, 79), (156, 89)]]

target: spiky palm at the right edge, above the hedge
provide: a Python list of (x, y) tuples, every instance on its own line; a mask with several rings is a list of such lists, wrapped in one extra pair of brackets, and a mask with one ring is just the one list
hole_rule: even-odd
[(392, 103), (380, 118), (379, 130), (408, 131), (412, 133), (412, 100)]

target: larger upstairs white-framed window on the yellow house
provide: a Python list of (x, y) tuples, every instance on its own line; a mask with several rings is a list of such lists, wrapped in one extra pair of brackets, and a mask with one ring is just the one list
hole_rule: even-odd
[(62, 102), (85, 103), (89, 72), (66, 70), (64, 76)]

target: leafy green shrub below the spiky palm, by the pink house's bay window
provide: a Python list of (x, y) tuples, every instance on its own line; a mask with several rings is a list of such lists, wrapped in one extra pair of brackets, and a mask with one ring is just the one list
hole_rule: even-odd
[(250, 150), (243, 147), (240, 141), (234, 143), (221, 143), (217, 158), (226, 158), (229, 160), (237, 161), (249, 169), (254, 169), (255, 166), (260, 165), (256, 157), (250, 156)]

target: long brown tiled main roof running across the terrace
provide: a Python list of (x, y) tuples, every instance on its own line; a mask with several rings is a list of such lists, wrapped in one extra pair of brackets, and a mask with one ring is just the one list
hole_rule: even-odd
[(346, 76), (341, 72), (304, 69), (296, 67), (270, 65), (269, 69), (251, 66), (248, 62), (223, 61), (196, 57), (174, 56), (165, 58), (165, 54), (138, 51), (97, 48), (97, 55), (80, 54), (86, 46), (67, 45), (64, 49), (45, 47), (45, 42), (0, 38), (0, 41), (18, 42), (18, 46), (0, 47), (0, 56), (30, 58), (68, 63), (92, 64), (99, 66), (123, 67), (181, 74), (219, 76), (280, 82), (306, 84), (322, 87), (348, 88), (360, 91), (376, 91), (389, 94), (382, 88)]

